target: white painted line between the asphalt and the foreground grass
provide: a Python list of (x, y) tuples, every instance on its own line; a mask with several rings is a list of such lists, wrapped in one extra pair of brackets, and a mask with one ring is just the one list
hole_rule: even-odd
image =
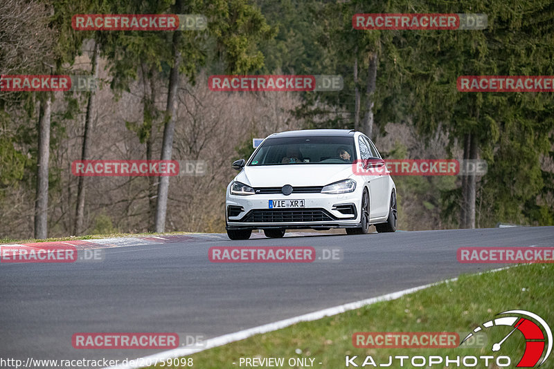
[[(498, 269), (491, 269), (485, 272), (479, 272), (477, 274), (470, 274), (470, 275), (478, 275), (480, 276), (483, 273), (494, 273), (499, 272), (504, 269), (508, 269), (510, 267), (501, 267)], [(310, 312), (307, 314), (294, 316), (289, 319), (283, 319), (282, 321), (276, 321), (274, 323), (267, 323), (264, 325), (258, 325), (258, 327), (249, 328), (246, 330), (240, 330), (238, 332), (224, 334), (219, 337), (214, 337), (213, 339), (207, 339), (205, 342), (205, 345), (202, 348), (194, 348), (194, 347), (183, 347), (183, 348), (174, 348), (172, 350), (166, 350), (162, 352), (158, 352), (157, 354), (148, 355), (147, 357), (140, 357), (138, 359), (129, 360), (134, 361), (134, 365), (123, 365), (119, 364), (116, 366), (109, 366), (107, 368), (103, 369), (137, 369), (137, 368), (145, 368), (147, 366), (152, 366), (155, 363), (161, 363), (161, 361), (165, 361), (167, 359), (173, 359), (175, 357), (184, 357), (191, 354), (196, 354), (197, 352), (202, 352), (205, 350), (209, 350), (211, 348), (216, 348), (219, 346), (224, 346), (228, 343), (235, 342), (235, 341), (241, 341), (242, 339), (247, 339), (249, 337), (252, 337), (256, 334), (262, 334), (267, 332), (273, 332), (275, 330), (280, 330), (283, 328), (288, 327), (289, 325), (293, 325), (296, 323), (300, 323), (302, 321), (315, 321), (317, 319), (325, 318), (325, 316), (333, 316), (337, 314), (341, 314), (343, 312), (347, 312), (349, 310), (355, 310), (364, 307), (365, 305), (371, 305), (373, 303), (379, 303), (382, 301), (391, 301), (400, 299), (400, 297), (411, 294), (413, 292), (417, 292), (420, 290), (425, 290), (426, 288), (433, 287), (435, 285), (441, 285), (443, 283), (449, 283), (457, 281), (458, 277), (446, 279), (445, 281), (439, 281), (435, 283), (429, 283), (427, 285), (420, 285), (418, 287), (412, 287), (408, 288), (407, 290), (402, 290), (398, 292), (392, 292), (390, 294), (384, 294), (382, 296), (377, 297), (371, 297), (370, 299), (364, 299), (359, 301), (354, 301), (352, 303), (346, 303), (343, 305), (335, 306), (334, 308), (327, 308), (323, 310), (319, 310), (316, 312)], [(139, 364), (143, 363), (143, 365)]]

